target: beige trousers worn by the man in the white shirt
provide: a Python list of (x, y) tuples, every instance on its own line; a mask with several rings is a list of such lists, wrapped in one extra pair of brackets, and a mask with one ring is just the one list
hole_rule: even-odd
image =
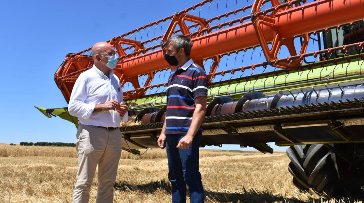
[(116, 172), (118, 171), (121, 155), (122, 135), (120, 130), (106, 130), (80, 124), (76, 139), (78, 172), (73, 202), (88, 202), (97, 165), (98, 188), (96, 202), (112, 202)]

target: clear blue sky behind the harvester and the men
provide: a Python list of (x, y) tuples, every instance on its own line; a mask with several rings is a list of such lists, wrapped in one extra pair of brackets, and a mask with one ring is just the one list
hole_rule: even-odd
[[(53, 79), (65, 55), (172, 15), (198, 2), (3, 1), (0, 6), (3, 73), (0, 80), (0, 143), (75, 142), (76, 128), (72, 123), (60, 118), (48, 119), (33, 107), (67, 106)], [(201, 17), (209, 18), (247, 4), (246, 0), (237, 0), (239, 5), (235, 6), (236, 0), (229, 0), (225, 8), (226, 1), (221, 0), (218, 6), (222, 10), (216, 12), (216, 2), (214, 0), (211, 5), (210, 15), (203, 16), (201, 13)], [(249, 3), (253, 1), (249, 0)], [(203, 11), (207, 12), (206, 8), (207, 5)], [(198, 10), (194, 15), (198, 15)], [(285, 150), (276, 146), (273, 148)], [(240, 147), (226, 145), (223, 149)]]

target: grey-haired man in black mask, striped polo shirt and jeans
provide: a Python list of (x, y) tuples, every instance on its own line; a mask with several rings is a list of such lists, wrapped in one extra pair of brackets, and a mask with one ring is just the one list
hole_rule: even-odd
[(206, 113), (207, 78), (205, 70), (189, 57), (192, 42), (176, 35), (166, 41), (165, 59), (176, 66), (167, 84), (167, 112), (160, 148), (167, 148), (172, 183), (172, 202), (186, 202), (186, 184), (191, 203), (204, 202), (201, 174), (198, 171), (202, 121)]

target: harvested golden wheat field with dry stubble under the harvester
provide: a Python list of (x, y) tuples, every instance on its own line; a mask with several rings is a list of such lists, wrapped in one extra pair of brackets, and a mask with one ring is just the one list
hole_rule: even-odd
[[(360, 196), (326, 199), (297, 190), (285, 152), (200, 152), (206, 202), (362, 202)], [(0, 202), (71, 202), (77, 172), (74, 147), (0, 146)], [(171, 202), (164, 150), (122, 153), (114, 202)], [(97, 175), (97, 174), (96, 174)], [(96, 177), (96, 176), (95, 176)], [(97, 181), (91, 188), (95, 202)], [(362, 190), (361, 197), (364, 192)]]

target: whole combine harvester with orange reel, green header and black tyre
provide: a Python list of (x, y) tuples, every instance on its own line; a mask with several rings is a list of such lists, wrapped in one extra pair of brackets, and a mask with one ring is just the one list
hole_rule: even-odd
[[(166, 112), (165, 76), (175, 68), (163, 58), (163, 43), (185, 34), (193, 41), (191, 58), (209, 79), (202, 147), (238, 144), (273, 153), (266, 143), (290, 146), (288, 169), (298, 188), (329, 194), (359, 191), (364, 169), (364, 3), (256, 0), (203, 19), (204, 8), (210, 13), (212, 6), (223, 7), (213, 3), (204, 0), (107, 41), (119, 55), (114, 73), (125, 90), (129, 121), (141, 121), (120, 128), (123, 149), (139, 154), (137, 149), (157, 147)], [(257, 49), (259, 58), (257, 53), (253, 57)], [(90, 50), (67, 54), (55, 73), (67, 102), (79, 74), (93, 64)], [(251, 56), (245, 56), (248, 52)], [(36, 108), (78, 125), (67, 108)]]

